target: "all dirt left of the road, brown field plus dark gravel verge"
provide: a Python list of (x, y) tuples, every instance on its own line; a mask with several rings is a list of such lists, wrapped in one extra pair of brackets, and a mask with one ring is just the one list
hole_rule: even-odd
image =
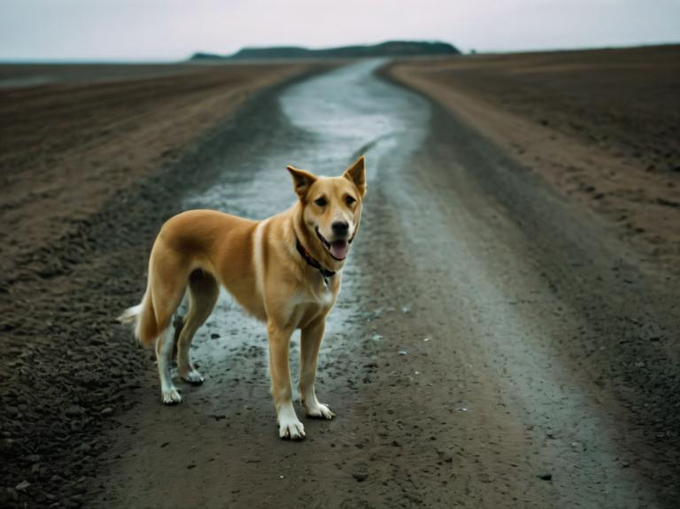
[(313, 69), (135, 67), (125, 81), (116, 67), (93, 81), (50, 66), (57, 84), (0, 89), (0, 503), (82, 504), (109, 445), (99, 433), (149, 368), (112, 326), (143, 279), (130, 261), (187, 182), (213, 178), (191, 170), (197, 141)]

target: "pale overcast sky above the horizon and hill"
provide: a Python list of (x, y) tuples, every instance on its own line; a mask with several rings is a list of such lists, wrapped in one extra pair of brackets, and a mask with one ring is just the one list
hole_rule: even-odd
[(0, 0), (0, 60), (175, 61), (394, 39), (482, 52), (680, 42), (680, 0)]

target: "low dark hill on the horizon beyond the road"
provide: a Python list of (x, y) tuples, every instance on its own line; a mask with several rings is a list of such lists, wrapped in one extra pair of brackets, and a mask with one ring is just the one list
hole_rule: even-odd
[(298, 46), (243, 48), (234, 55), (195, 53), (189, 60), (257, 60), (272, 58), (368, 58), (407, 57), (413, 55), (458, 55), (460, 51), (448, 42), (389, 41), (372, 46), (343, 46), (309, 50)]

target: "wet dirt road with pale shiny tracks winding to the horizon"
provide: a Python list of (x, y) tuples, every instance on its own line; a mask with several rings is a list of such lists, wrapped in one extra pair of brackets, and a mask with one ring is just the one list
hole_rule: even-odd
[[(143, 374), (99, 504), (671, 506), (672, 281), (641, 273), (596, 218), (381, 80), (381, 65), (277, 92), (181, 204), (263, 218), (294, 199), (286, 164), (339, 174), (367, 154), (362, 228), (320, 359), (336, 419), (303, 420), (302, 443), (278, 438), (264, 326), (223, 296), (194, 341), (205, 384), (165, 407), (155, 371)], [(297, 356), (296, 335), (294, 374)]]

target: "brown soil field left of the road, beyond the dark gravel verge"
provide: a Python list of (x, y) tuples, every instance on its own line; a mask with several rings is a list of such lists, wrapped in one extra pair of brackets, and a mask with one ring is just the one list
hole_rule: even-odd
[[(151, 76), (120, 81), (125, 67), (117, 67), (104, 73), (113, 79), (117, 71), (115, 81), (79, 82), (66, 67), (58, 70), (66, 82), (0, 89), (0, 288), (7, 291), (30, 274), (60, 274), (57, 260), (42, 266), (35, 250), (73, 234), (120, 189), (176, 160), (183, 146), (254, 90), (303, 68), (149, 67)], [(35, 72), (44, 73), (42, 67)], [(89, 78), (92, 70), (82, 73)], [(12, 286), (15, 299), (18, 292)]]

